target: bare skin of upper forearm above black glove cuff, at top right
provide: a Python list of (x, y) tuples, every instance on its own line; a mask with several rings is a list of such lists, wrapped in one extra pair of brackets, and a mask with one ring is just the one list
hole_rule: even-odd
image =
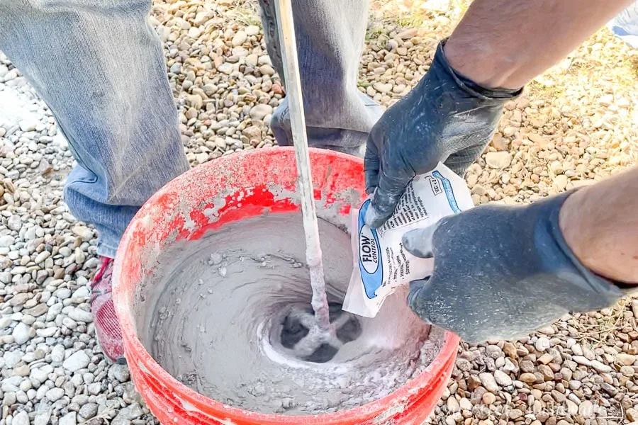
[(452, 67), (486, 87), (518, 89), (559, 62), (632, 0), (474, 0), (450, 36)]

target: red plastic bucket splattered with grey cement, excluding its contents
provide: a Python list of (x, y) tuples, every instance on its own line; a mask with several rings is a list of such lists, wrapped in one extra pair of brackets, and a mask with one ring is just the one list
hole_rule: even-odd
[[(364, 200), (361, 159), (310, 149), (310, 163), (315, 199), (325, 203), (324, 206), (339, 203), (340, 214), (347, 215), (352, 206), (357, 207)], [(135, 331), (136, 286), (150, 272), (149, 265), (157, 259), (162, 246), (165, 248), (179, 239), (198, 239), (205, 232), (262, 215), (264, 210), (298, 211), (298, 203), (271, 191), (276, 186), (293, 193), (295, 181), (295, 155), (290, 147), (222, 157), (164, 186), (140, 209), (126, 230), (113, 273), (115, 305), (133, 382), (162, 424), (420, 425), (440, 399), (459, 344), (458, 337), (451, 333), (445, 335), (442, 350), (427, 370), (390, 395), (353, 409), (309, 416), (261, 414), (216, 402), (169, 375), (142, 346)], [(361, 193), (357, 205), (344, 203), (339, 194), (352, 193), (353, 189)], [(211, 209), (216, 212), (214, 220)]]

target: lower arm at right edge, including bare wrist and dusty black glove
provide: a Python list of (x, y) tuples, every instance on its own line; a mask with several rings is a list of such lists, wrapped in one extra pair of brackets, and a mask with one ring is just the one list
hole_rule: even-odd
[(638, 167), (532, 205), (481, 205), (403, 237), (434, 258), (410, 307), (469, 342), (514, 339), (638, 285)]

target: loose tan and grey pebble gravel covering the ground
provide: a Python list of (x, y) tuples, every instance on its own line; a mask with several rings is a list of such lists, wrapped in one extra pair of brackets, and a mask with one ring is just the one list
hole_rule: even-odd
[[(359, 87), (386, 106), (422, 77), (462, 10), (425, 6), (374, 2)], [(256, 11), (242, 1), (155, 1), (193, 165), (274, 145), (268, 122), (283, 90)], [(466, 176), (474, 201), (527, 203), (635, 164), (637, 80), (638, 54), (606, 30), (594, 35), (508, 103)], [(96, 346), (86, 287), (96, 235), (62, 202), (72, 164), (50, 111), (0, 54), (0, 425), (157, 423), (127, 368)], [(638, 421), (637, 320), (638, 300), (627, 298), (520, 341), (461, 344), (429, 421)]]

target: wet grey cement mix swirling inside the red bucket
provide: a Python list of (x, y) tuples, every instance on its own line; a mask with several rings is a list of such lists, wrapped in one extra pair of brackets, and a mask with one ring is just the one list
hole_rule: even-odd
[[(342, 302), (352, 271), (349, 235), (319, 222), (329, 302)], [(233, 407), (319, 414), (357, 407), (403, 386), (440, 351), (443, 331), (389, 297), (361, 336), (327, 363), (281, 346), (286, 312), (308, 307), (301, 214), (272, 214), (223, 227), (160, 254), (139, 286), (142, 344), (175, 378)]]

